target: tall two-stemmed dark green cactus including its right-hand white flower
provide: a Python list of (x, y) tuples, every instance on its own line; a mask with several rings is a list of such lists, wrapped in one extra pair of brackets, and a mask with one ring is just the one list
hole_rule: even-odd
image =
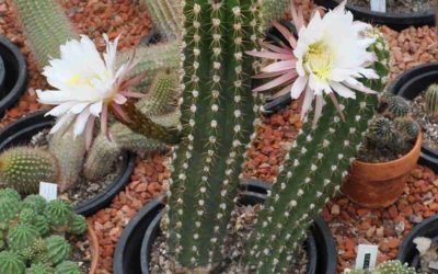
[[(158, 273), (209, 273), (222, 263), (227, 267), (238, 261), (242, 262), (239, 273), (293, 269), (291, 261), (308, 228), (339, 189), (356, 156), (361, 134), (374, 115), (377, 93), (388, 79), (389, 53), (383, 36), (367, 24), (353, 23), (345, 3), (324, 18), (315, 12), (309, 24), (292, 5), (299, 36), (274, 23), (288, 44), (278, 47), (265, 43), (266, 50), (257, 50), (263, 31), (288, 3), (183, 2), (182, 140), (174, 149), (170, 190), (161, 213), (165, 242), (155, 242), (165, 247), (165, 260), (161, 261), (171, 269), (158, 265)], [(339, 27), (350, 39), (334, 45)], [(252, 76), (261, 62), (252, 56), (267, 59), (257, 78), (270, 81), (260, 87), (253, 85)], [(257, 125), (257, 92), (273, 88), (274, 92), (288, 89), (292, 99), (303, 99), (303, 126), (253, 230), (244, 237), (244, 251), (240, 259), (229, 260), (224, 239), (230, 232), (227, 228), (233, 227), (230, 219), (244, 151)], [(137, 132), (149, 127), (148, 121), (136, 115), (130, 118)]]

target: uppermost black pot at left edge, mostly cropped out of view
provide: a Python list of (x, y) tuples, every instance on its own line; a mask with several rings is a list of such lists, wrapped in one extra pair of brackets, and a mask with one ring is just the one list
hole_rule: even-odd
[(0, 35), (0, 58), (4, 66), (3, 79), (0, 68), (0, 116), (3, 116), (27, 88), (27, 66), (19, 48), (2, 35)]

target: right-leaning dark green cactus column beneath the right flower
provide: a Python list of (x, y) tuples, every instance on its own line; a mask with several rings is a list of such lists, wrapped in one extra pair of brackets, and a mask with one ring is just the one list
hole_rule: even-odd
[[(377, 36), (371, 50), (377, 53), (379, 61), (373, 68), (383, 81), (377, 79), (366, 84), (381, 91), (389, 73), (389, 50), (381, 34), (369, 35)], [(358, 92), (356, 100), (339, 100), (345, 123), (331, 100), (326, 101), (315, 128), (312, 128), (313, 113), (303, 122), (249, 237), (244, 260), (257, 273), (289, 270), (297, 248), (307, 237), (307, 229), (339, 189), (355, 160), (378, 98)]]

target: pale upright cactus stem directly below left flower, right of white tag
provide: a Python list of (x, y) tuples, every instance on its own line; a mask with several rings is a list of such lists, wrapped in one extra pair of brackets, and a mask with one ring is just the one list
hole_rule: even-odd
[(49, 151), (58, 159), (60, 176), (58, 186), (65, 192), (80, 179), (85, 159), (85, 135), (74, 136), (72, 127), (61, 128), (50, 136)]

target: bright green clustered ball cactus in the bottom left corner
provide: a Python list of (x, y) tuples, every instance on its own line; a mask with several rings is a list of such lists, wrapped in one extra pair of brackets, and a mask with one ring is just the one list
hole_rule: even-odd
[(88, 226), (67, 202), (47, 203), (39, 195), (21, 201), (14, 190), (2, 189), (0, 213), (5, 212), (0, 224), (0, 273), (80, 274), (79, 265), (68, 261), (71, 246), (64, 235), (83, 235)]

